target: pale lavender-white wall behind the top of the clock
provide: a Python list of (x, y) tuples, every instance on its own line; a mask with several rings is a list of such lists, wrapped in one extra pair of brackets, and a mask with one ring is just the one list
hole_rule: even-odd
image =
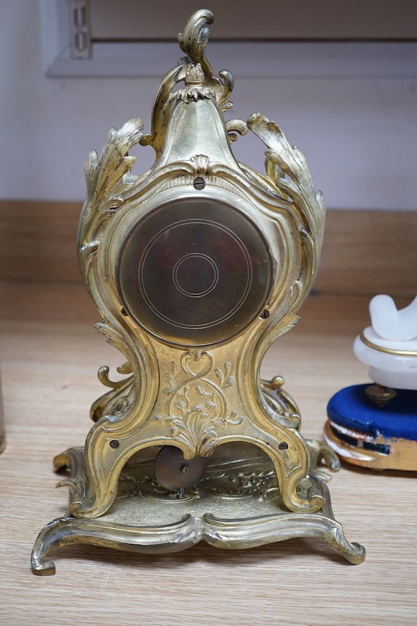
[[(82, 200), (88, 152), (128, 118), (149, 130), (161, 77), (46, 77), (39, 4), (0, 3), (0, 198)], [(227, 58), (224, 67), (234, 71)], [(304, 152), (329, 208), (417, 210), (416, 77), (237, 77), (232, 113), (275, 120)], [(263, 168), (263, 144), (237, 144), (238, 159)], [(136, 170), (152, 161), (149, 150), (136, 150)]]

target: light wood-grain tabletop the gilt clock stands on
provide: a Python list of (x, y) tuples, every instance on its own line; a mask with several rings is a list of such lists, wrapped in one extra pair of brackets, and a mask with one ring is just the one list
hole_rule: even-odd
[[(76, 284), (1, 284), (1, 377), (6, 451), (0, 456), (0, 619), (4, 625), (395, 625), (417, 622), (416, 475), (343, 465), (329, 488), (345, 535), (366, 547), (350, 565), (327, 543), (294, 539), (227, 552), (199, 544), (167, 556), (88, 546), (52, 556), (33, 575), (38, 532), (67, 508), (53, 457), (82, 445), (97, 369), (122, 355), (92, 328), (98, 314)], [(263, 376), (281, 374), (322, 438), (329, 398), (367, 382), (352, 353), (368, 298), (310, 296), (302, 321), (270, 349)]]

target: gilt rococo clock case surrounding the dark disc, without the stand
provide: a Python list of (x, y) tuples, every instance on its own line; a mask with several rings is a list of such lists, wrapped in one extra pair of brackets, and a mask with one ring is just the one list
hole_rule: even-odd
[[(65, 482), (77, 517), (97, 517), (108, 510), (126, 461), (155, 444), (175, 444), (185, 458), (192, 458), (210, 456), (225, 442), (256, 442), (270, 455), (290, 510), (318, 511), (322, 504), (319, 485), (312, 485), (305, 497), (298, 492), (309, 472), (309, 451), (298, 431), (300, 416), (272, 406), (258, 381), (265, 351), (297, 322), (297, 310), (311, 289), (325, 206), (313, 189), (304, 157), (274, 122), (256, 114), (247, 122), (224, 125), (222, 111), (231, 106), (227, 98), (233, 79), (229, 72), (214, 77), (206, 60), (206, 23), (212, 19), (205, 10), (195, 13), (179, 37), (188, 56), (161, 83), (152, 133), (143, 135), (142, 122), (130, 120), (111, 131), (101, 156), (92, 152), (85, 166), (81, 273), (105, 320), (97, 329), (124, 353), (131, 377), (95, 403), (93, 412), (101, 417), (86, 442), (85, 477)], [(185, 87), (173, 91), (179, 82)], [(265, 143), (268, 177), (234, 159), (231, 129), (243, 134), (251, 130)], [(142, 176), (130, 172), (133, 157), (128, 152), (135, 143), (152, 145), (156, 152), (153, 168)], [(204, 188), (196, 191), (197, 178)], [(236, 337), (220, 343), (216, 338), (204, 349), (181, 348), (169, 335), (145, 332), (129, 311), (126, 315), (117, 275), (120, 251), (140, 219), (179, 198), (238, 207), (256, 224), (270, 251), (272, 286), (265, 312), (260, 310)], [(284, 450), (279, 449), (282, 442)]]

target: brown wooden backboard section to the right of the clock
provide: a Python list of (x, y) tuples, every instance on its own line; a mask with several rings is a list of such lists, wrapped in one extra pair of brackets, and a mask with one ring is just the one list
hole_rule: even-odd
[(412, 298), (416, 268), (417, 211), (327, 211), (319, 293)]

